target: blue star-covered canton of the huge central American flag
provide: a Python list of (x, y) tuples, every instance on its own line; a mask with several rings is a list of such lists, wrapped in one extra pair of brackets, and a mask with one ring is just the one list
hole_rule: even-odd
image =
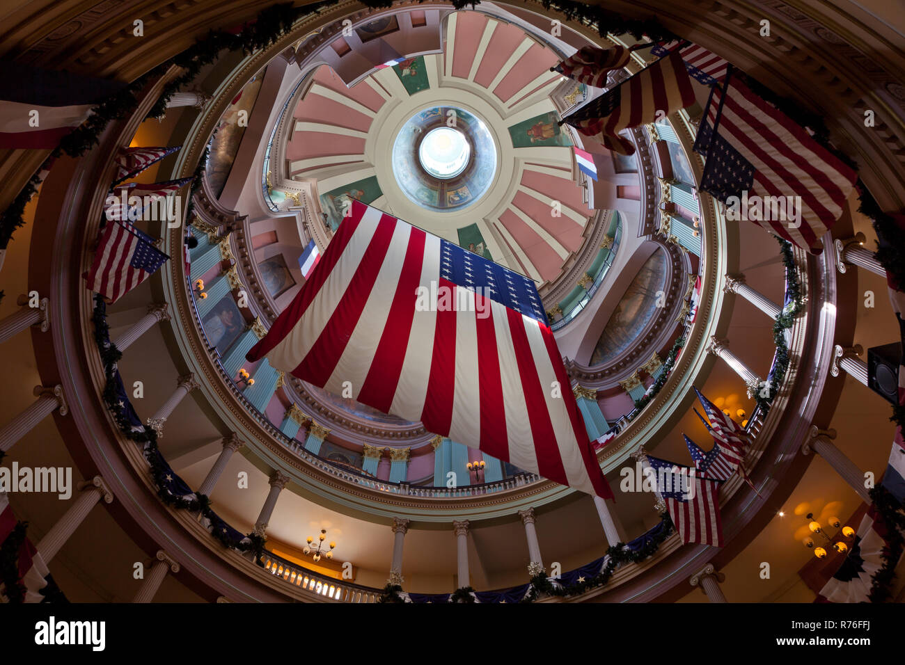
[(547, 316), (533, 281), (442, 238), (440, 277), (463, 289), (479, 290), (503, 307), (547, 325)]

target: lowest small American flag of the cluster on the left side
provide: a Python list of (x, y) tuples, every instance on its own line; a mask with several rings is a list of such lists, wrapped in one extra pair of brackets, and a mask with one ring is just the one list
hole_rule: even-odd
[(154, 241), (128, 222), (109, 221), (100, 234), (90, 270), (83, 276), (86, 286), (109, 302), (134, 289), (169, 257)]

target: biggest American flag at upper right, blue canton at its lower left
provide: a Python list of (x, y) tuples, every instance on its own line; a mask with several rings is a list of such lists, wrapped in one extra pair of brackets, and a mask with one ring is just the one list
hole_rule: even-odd
[[(722, 203), (738, 197), (742, 218), (805, 250), (843, 214), (857, 180), (851, 167), (731, 73), (711, 89), (694, 151), (706, 159), (701, 190)], [(760, 197), (779, 198), (767, 205)]]

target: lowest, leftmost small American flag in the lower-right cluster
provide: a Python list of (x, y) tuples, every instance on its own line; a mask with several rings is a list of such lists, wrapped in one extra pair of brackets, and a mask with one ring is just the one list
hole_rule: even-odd
[(719, 518), (719, 482), (672, 461), (647, 456), (656, 472), (657, 493), (666, 503), (672, 524), (685, 544), (723, 546)]

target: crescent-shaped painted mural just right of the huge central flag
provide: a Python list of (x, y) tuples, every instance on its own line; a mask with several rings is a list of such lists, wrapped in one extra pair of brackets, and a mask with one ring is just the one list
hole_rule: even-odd
[(622, 354), (641, 337), (657, 310), (657, 291), (666, 285), (666, 255), (658, 249), (644, 262), (616, 305), (591, 354), (591, 366)]

